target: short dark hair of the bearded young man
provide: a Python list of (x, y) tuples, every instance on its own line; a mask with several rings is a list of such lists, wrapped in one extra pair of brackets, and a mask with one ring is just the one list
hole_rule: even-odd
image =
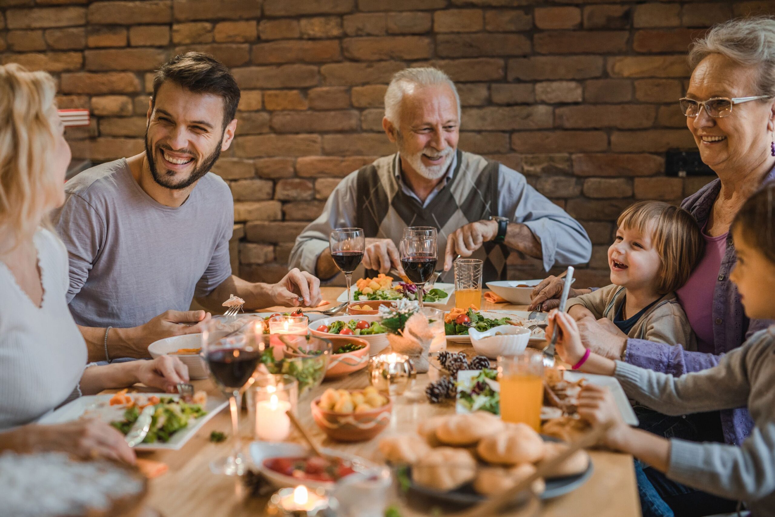
[(215, 57), (203, 52), (178, 54), (161, 65), (153, 76), (151, 106), (156, 105), (156, 94), (166, 81), (172, 81), (194, 93), (208, 93), (223, 98), (223, 127), (234, 119), (239, 104), (239, 86), (229, 68)]

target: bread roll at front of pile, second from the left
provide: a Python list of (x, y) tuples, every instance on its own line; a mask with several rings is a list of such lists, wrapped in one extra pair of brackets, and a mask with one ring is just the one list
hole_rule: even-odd
[(426, 488), (450, 491), (477, 475), (477, 460), (465, 449), (436, 447), (412, 467), (412, 481)]

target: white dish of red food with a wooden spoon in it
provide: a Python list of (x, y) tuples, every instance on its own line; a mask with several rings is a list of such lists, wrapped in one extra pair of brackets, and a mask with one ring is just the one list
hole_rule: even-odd
[[(320, 452), (325, 454), (325, 456), (339, 457), (343, 460), (350, 461), (353, 464), (353, 470), (356, 470), (356, 472), (367, 472), (369, 470), (378, 471), (380, 469), (377, 464), (374, 464), (369, 460), (366, 460), (360, 456), (355, 456), (353, 454), (343, 453), (340, 450), (326, 449), (325, 447), (322, 447)], [(274, 484), (275, 487), (295, 487), (299, 484), (303, 484), (305, 487), (313, 489), (334, 488), (336, 483), (332, 483), (331, 481), (315, 481), (312, 479), (301, 479), (299, 477), (286, 476), (285, 474), (280, 474), (279, 472), (263, 466), (263, 460), (267, 460), (269, 458), (308, 457), (310, 454), (310, 451), (305, 446), (299, 445), (298, 443), (262, 441), (250, 443), (250, 460), (253, 461), (253, 465), (258, 470), (260, 470), (264, 477), (266, 477), (271, 484)], [(346, 477), (343, 477), (342, 479), (344, 480)]]

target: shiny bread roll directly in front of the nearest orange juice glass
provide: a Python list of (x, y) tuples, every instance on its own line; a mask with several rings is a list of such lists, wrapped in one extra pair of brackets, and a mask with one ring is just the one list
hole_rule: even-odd
[(543, 439), (526, 424), (510, 424), (504, 431), (484, 437), (477, 446), (482, 460), (491, 464), (532, 464), (543, 458)]

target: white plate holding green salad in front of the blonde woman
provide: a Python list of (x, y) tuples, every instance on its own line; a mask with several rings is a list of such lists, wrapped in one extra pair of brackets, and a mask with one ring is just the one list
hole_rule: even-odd
[[(129, 395), (144, 395), (146, 397), (156, 395), (159, 398), (178, 398), (178, 395), (171, 395), (169, 393), (137, 393)], [(126, 408), (123, 405), (110, 405), (109, 402), (112, 396), (112, 394), (85, 395), (84, 397), (76, 398), (73, 402), (63, 405), (61, 408), (57, 408), (53, 412), (43, 416), (37, 423), (60, 424), (63, 422), (72, 422), (73, 420), (80, 419), (84, 416), (98, 418), (105, 423), (110, 423), (113, 420), (122, 420)], [(191, 439), (191, 436), (194, 436), (209, 419), (212, 419), (219, 411), (226, 408), (227, 405), (229, 405), (229, 401), (225, 398), (208, 395), (207, 403), (205, 404), (207, 415), (190, 422), (188, 427), (175, 433), (167, 443), (140, 443), (140, 445), (135, 446), (134, 448), (135, 450), (178, 450), (184, 446), (185, 443)]]

